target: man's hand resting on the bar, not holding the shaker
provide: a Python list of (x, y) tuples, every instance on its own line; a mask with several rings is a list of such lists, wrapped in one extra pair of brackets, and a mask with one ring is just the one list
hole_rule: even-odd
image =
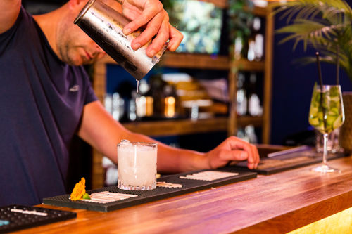
[(247, 160), (249, 169), (259, 163), (259, 154), (255, 145), (230, 136), (214, 150), (206, 153), (210, 168), (224, 167), (229, 161)]

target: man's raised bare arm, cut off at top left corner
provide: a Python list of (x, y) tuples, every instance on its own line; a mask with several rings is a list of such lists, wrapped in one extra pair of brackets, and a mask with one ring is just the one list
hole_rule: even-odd
[(20, 12), (20, 0), (0, 1), (0, 33), (6, 32), (15, 23)]

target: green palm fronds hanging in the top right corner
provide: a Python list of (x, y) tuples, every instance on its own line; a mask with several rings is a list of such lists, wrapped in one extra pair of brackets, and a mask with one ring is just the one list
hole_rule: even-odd
[[(294, 40), (313, 46), (320, 52), (321, 61), (336, 63), (345, 70), (352, 82), (352, 10), (344, 0), (296, 0), (272, 4), (274, 13), (287, 18), (286, 26), (277, 30), (289, 34), (280, 43)], [(303, 64), (313, 63), (315, 57), (301, 58)]]

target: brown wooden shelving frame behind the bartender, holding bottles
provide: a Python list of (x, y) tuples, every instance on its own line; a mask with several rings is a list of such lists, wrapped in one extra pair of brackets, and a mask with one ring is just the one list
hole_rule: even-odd
[[(227, 7), (225, 0), (206, 0), (214, 3), (221, 8)], [(265, 18), (265, 58), (260, 62), (249, 62), (240, 59), (233, 60), (228, 56), (209, 56), (188, 53), (165, 53), (159, 65), (164, 67), (179, 67), (189, 69), (207, 70), (227, 70), (229, 72), (229, 95), (230, 111), (227, 117), (214, 117), (212, 119), (191, 119), (171, 120), (165, 119), (156, 122), (130, 122), (124, 126), (134, 132), (149, 136), (172, 136), (182, 134), (197, 134), (211, 131), (227, 131), (229, 136), (237, 133), (239, 126), (253, 124), (263, 129), (264, 144), (270, 143), (270, 118), (271, 118), (271, 91), (272, 91), (272, 39), (274, 23), (267, 8), (254, 8), (253, 13)], [(116, 64), (115, 61), (106, 56), (94, 64), (93, 87), (98, 98), (103, 102), (106, 93), (106, 67), (108, 64)], [(236, 93), (237, 93), (237, 72), (263, 72), (264, 77), (264, 97), (263, 97), (263, 116), (249, 117), (237, 116)], [(101, 160), (103, 155), (93, 152), (92, 187), (101, 188), (103, 186), (103, 168)]]

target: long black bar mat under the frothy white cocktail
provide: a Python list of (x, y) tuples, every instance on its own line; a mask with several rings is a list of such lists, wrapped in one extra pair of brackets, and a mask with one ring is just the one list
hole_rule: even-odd
[[(203, 181), (199, 179), (189, 179), (189, 178), (180, 178), (180, 176), (187, 176), (191, 174), (196, 174), (202, 171), (218, 171), (218, 172), (236, 172), (234, 176), (227, 176), (225, 178), (214, 179), (213, 181)], [(98, 202), (89, 202), (84, 200), (71, 201), (69, 199), (70, 195), (60, 195), (57, 197), (44, 198), (44, 204), (56, 205), (61, 207), (71, 207), (75, 209), (88, 209), (100, 212), (110, 212), (115, 209), (132, 207), (137, 204), (143, 204), (146, 202), (153, 202), (156, 200), (161, 200), (167, 197), (174, 197), (176, 195), (182, 195), (184, 193), (191, 193), (198, 190), (203, 190), (206, 188), (212, 188), (215, 186), (222, 186), (228, 183), (234, 183), (239, 181), (244, 181), (249, 178), (256, 178), (257, 174), (251, 171), (243, 171), (241, 169), (214, 169), (214, 170), (200, 170), (200, 171), (189, 171), (182, 174), (173, 174), (169, 176), (163, 176), (158, 178), (158, 181), (163, 181), (166, 183), (181, 184), (182, 188), (164, 188), (157, 187), (153, 190), (137, 191), (137, 190), (121, 190), (118, 186), (110, 186), (106, 188), (101, 188), (97, 190), (89, 190), (87, 193), (92, 195), (92, 193), (100, 192), (110, 192), (110, 193), (122, 193), (122, 194), (132, 194), (137, 195), (135, 197), (129, 197), (124, 200), (118, 200), (108, 203), (98, 203)]]

